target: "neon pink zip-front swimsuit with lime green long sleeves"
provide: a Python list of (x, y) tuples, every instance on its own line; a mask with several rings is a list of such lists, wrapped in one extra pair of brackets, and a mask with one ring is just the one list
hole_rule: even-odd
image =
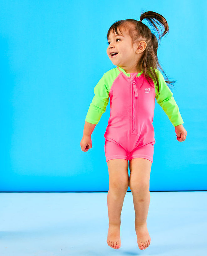
[(155, 98), (174, 126), (184, 123), (160, 71), (158, 77), (160, 94), (154, 81), (149, 83), (142, 72), (128, 74), (119, 66), (104, 73), (97, 83), (85, 121), (97, 124), (110, 97), (111, 112), (104, 134), (106, 162), (136, 157), (153, 162)]

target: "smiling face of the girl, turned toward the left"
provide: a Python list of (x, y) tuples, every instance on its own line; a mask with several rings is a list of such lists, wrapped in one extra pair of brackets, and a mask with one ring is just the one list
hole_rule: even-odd
[[(137, 62), (136, 48), (132, 47), (132, 38), (125, 33), (123, 35), (114, 34), (112, 31), (109, 34), (109, 46), (107, 47), (107, 55), (112, 63), (116, 66), (128, 66), (132, 62)], [(112, 52), (118, 54), (111, 56)]]

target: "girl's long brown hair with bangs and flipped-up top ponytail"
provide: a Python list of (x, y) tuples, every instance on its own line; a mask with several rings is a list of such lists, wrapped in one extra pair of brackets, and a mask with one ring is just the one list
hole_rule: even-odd
[[(159, 42), (160, 38), (164, 36), (168, 31), (168, 23), (166, 19), (159, 13), (155, 12), (141, 12), (140, 20), (147, 19), (147, 21), (154, 26), (156, 29), (158, 35), (159, 35)], [(164, 27), (164, 32), (160, 35), (158, 27), (155, 25), (154, 21), (159, 24), (161, 23)], [(159, 23), (158, 23), (159, 21)], [(159, 25), (160, 27), (160, 25)], [(119, 20), (111, 25), (109, 28), (109, 31), (107, 33), (107, 40), (109, 40), (109, 34), (111, 31), (116, 32), (116, 34), (119, 35), (118, 30), (122, 34), (122, 29), (127, 32), (132, 38), (132, 45), (134, 42), (138, 42), (141, 40), (144, 40), (147, 43), (147, 46), (145, 50), (143, 51), (143, 54), (139, 60), (139, 63), (137, 63), (137, 69), (143, 70), (144, 77), (146, 77), (147, 81), (149, 82), (149, 77), (151, 76), (154, 81), (156, 81), (158, 93), (159, 93), (159, 80), (158, 80), (158, 74), (155, 72), (155, 69), (158, 70), (158, 67), (163, 71), (162, 67), (159, 64), (158, 57), (157, 57), (157, 49), (158, 49), (158, 40), (156, 36), (151, 32), (149, 27), (145, 25), (144, 23), (135, 20), (135, 19), (125, 19), (125, 20)], [(163, 71), (164, 72), (164, 71)], [(165, 74), (165, 72), (164, 72)], [(165, 74), (166, 76), (166, 74)], [(167, 77), (167, 76), (166, 76)], [(169, 81), (167, 78), (166, 83), (172, 84), (176, 81)]]

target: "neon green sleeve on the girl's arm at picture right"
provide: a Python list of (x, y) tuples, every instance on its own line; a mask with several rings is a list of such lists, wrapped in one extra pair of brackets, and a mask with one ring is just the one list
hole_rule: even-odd
[(176, 104), (173, 93), (170, 91), (167, 86), (164, 77), (160, 71), (158, 71), (158, 79), (159, 79), (159, 93), (157, 90), (157, 85), (155, 86), (155, 98), (157, 103), (162, 107), (165, 114), (168, 116), (170, 122), (173, 126), (181, 125), (184, 123), (178, 105)]

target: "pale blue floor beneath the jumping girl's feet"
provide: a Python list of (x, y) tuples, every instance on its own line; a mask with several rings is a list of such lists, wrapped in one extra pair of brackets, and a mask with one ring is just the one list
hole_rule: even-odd
[(107, 192), (0, 193), (0, 255), (207, 255), (207, 192), (150, 195), (151, 244), (140, 250), (131, 192), (124, 199), (119, 249), (106, 243)]

